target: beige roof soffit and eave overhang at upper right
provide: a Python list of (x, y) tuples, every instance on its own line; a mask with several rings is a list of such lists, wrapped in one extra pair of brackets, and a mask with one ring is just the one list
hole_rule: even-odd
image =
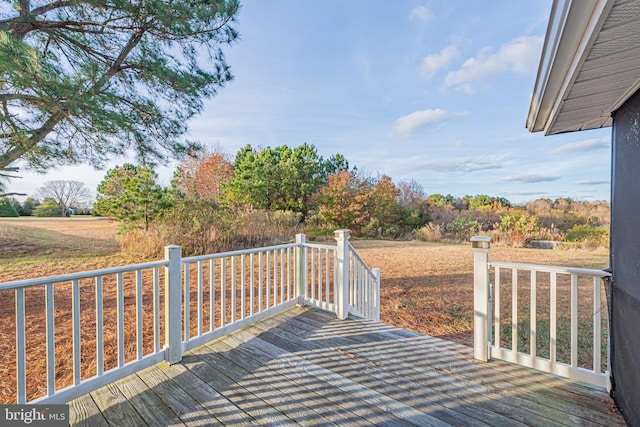
[(640, 0), (554, 1), (529, 130), (611, 126), (611, 113), (639, 88)]

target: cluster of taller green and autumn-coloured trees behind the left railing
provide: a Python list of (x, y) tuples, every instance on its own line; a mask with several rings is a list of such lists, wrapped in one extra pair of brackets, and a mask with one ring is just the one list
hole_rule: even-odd
[(199, 152), (178, 165), (169, 187), (150, 166), (118, 166), (98, 186), (93, 208), (118, 219), (122, 232), (151, 252), (167, 241), (200, 253), (337, 228), (401, 238), (429, 219), (417, 183), (365, 176), (343, 155), (324, 158), (306, 143), (247, 145), (233, 158), (219, 149)]

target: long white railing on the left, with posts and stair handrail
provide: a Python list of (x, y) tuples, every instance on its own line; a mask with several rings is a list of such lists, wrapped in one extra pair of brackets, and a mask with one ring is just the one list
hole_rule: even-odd
[[(0, 284), (2, 303), (15, 304), (15, 403), (69, 401), (295, 304), (379, 319), (379, 270), (355, 253), (348, 230), (336, 241), (300, 234), (188, 258), (167, 246), (161, 261)], [(5, 342), (8, 334), (0, 329)]]

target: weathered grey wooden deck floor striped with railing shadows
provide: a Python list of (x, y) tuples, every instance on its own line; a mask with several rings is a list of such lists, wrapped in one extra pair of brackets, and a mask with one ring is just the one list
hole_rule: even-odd
[(296, 307), (70, 402), (71, 424), (624, 425), (609, 396), (381, 323)]

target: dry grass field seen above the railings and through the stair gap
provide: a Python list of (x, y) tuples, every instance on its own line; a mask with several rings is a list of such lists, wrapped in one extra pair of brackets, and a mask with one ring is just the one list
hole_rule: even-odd
[[(120, 253), (117, 223), (92, 217), (0, 219), (0, 282), (144, 261)], [(354, 240), (382, 274), (384, 322), (457, 338), (472, 335), (473, 283), (469, 245)], [(500, 261), (606, 268), (605, 250), (496, 247)]]

